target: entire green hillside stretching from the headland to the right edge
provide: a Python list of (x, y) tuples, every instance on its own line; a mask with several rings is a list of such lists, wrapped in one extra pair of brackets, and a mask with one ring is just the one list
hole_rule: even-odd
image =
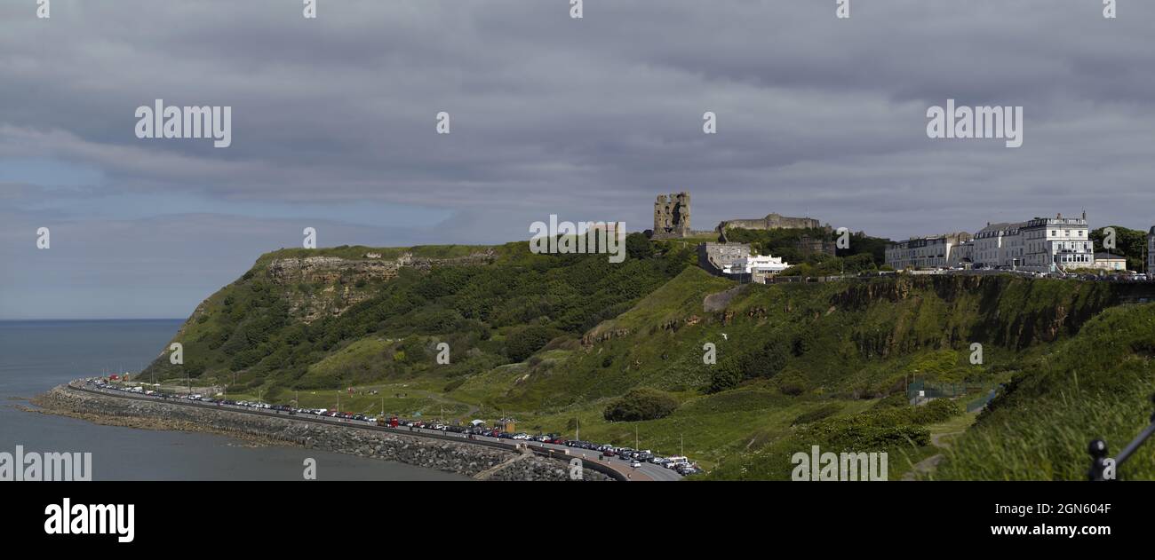
[[(755, 233), (766, 247), (788, 239)], [(863, 247), (830, 259), (875, 266)], [(1150, 413), (1155, 306), (1118, 305), (1134, 286), (1011, 275), (739, 286), (693, 266), (684, 240), (633, 234), (626, 249), (618, 264), (524, 242), (282, 249), (189, 318), (173, 339), (184, 367), (165, 353), (146, 374), (303, 406), (512, 416), (521, 431), (688, 455), (706, 478), (785, 479), (814, 445), (888, 451), (893, 479), (939, 453), (927, 477), (1080, 478), (1087, 441), (1117, 450)], [(275, 259), (480, 251), (491, 263), (388, 279), (270, 272)], [(437, 361), (442, 342), (449, 364)], [(916, 408), (912, 380), (1004, 389), (971, 426), (962, 403), (979, 394)], [(1155, 464), (1137, 456), (1120, 472), (1155, 478)]]

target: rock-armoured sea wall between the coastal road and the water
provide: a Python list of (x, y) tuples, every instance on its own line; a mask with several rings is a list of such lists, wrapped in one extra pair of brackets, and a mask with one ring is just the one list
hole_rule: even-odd
[[(215, 432), (244, 439), (282, 442), (306, 449), (454, 472), (487, 480), (568, 480), (567, 465), (557, 460), (513, 449), (420, 438), (352, 426), (334, 426), (289, 418), (260, 416), (226, 409), (193, 406), (81, 391), (58, 386), (32, 403), (45, 412), (75, 416), (105, 424)], [(483, 475), (484, 477), (479, 477)], [(608, 480), (586, 469), (586, 480)]]

